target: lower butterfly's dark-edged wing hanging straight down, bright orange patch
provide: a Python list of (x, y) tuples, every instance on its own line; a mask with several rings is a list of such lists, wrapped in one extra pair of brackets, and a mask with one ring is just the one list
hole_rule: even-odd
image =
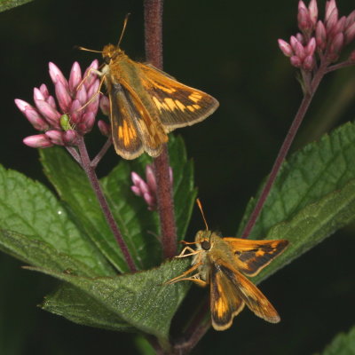
[(244, 308), (244, 302), (217, 264), (211, 264), (209, 281), (212, 326), (216, 330), (225, 330), (231, 327), (233, 318)]

